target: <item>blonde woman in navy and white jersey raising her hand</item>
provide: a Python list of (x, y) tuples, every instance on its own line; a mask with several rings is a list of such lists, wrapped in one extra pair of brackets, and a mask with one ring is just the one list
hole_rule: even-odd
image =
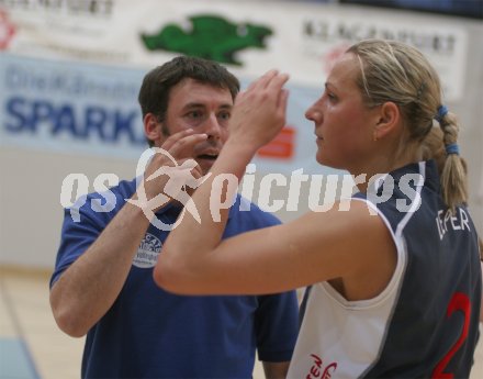
[[(287, 80), (269, 71), (237, 98), (229, 138), (193, 196), (201, 223), (183, 215), (159, 256), (156, 282), (191, 294), (311, 286), (289, 378), (468, 378), (479, 333), (478, 235), (464, 207), (458, 122), (417, 49), (355, 44), (306, 111), (317, 161), (347, 169), (356, 196), (221, 241), (228, 210), (215, 220), (210, 200), (235, 191), (227, 182), (214, 188), (240, 179), (284, 125)], [(441, 177), (434, 160), (423, 159), (435, 125), (447, 153)]]

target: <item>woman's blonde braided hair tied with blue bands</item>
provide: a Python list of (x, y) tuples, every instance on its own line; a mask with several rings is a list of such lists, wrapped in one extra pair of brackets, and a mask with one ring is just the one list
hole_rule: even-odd
[[(359, 60), (357, 86), (367, 107), (387, 101), (397, 104), (409, 141), (420, 143), (423, 148), (427, 148), (425, 140), (438, 124), (442, 131), (439, 147), (457, 144), (458, 120), (450, 112), (439, 112), (442, 103), (439, 76), (418, 49), (396, 41), (366, 40), (347, 52)], [(468, 202), (465, 166), (459, 154), (445, 152), (440, 182), (448, 208)]]

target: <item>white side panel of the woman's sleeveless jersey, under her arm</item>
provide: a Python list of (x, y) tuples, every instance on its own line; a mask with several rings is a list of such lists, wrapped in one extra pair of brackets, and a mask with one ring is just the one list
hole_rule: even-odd
[(396, 269), (375, 299), (347, 301), (328, 282), (312, 286), (288, 378), (358, 378), (378, 359), (406, 264), (393, 237)]

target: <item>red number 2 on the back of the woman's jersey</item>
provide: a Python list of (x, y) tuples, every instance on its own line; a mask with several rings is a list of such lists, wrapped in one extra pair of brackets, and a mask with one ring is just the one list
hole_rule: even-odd
[(471, 302), (468, 296), (461, 292), (456, 292), (453, 294), (446, 311), (446, 316), (449, 319), (454, 311), (461, 311), (464, 314), (463, 330), (461, 331), (460, 337), (454, 343), (454, 345), (451, 346), (451, 349), (448, 352), (448, 354), (445, 355), (445, 357), (439, 361), (438, 366), (436, 366), (435, 370), (433, 371), (431, 379), (451, 379), (454, 377), (453, 374), (447, 374), (442, 371), (445, 370), (446, 366), (448, 366), (448, 363), (451, 360), (454, 353), (458, 352), (458, 349), (464, 343), (464, 339), (467, 339), (468, 337), (471, 313)]

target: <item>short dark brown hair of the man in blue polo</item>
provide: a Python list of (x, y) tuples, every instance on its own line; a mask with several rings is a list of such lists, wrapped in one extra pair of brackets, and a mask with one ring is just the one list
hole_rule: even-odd
[[(226, 88), (232, 93), (234, 101), (240, 87), (238, 79), (216, 62), (198, 57), (178, 56), (151, 69), (144, 77), (137, 97), (143, 119), (147, 113), (153, 113), (159, 122), (162, 122), (168, 109), (171, 88), (187, 78), (194, 79), (201, 83)], [(149, 145), (153, 146), (151, 142), (149, 142)]]

